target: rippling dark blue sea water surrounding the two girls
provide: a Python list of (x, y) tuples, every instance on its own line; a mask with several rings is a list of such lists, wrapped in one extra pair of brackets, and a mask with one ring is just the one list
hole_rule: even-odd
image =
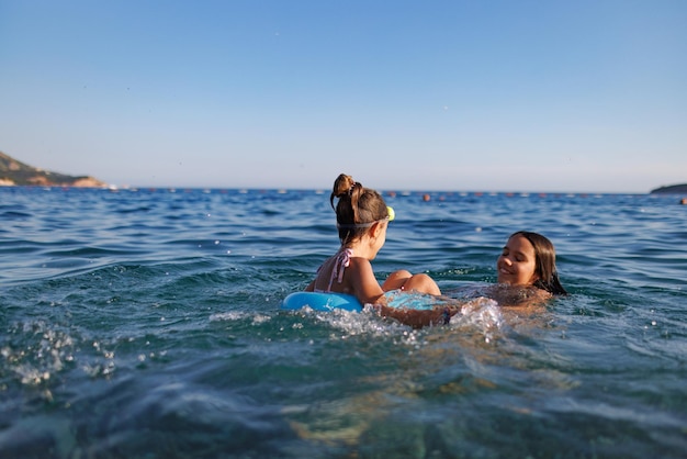
[(396, 191), (380, 281), (478, 290), (529, 229), (571, 294), (282, 311), (338, 248), (328, 190), (0, 188), (0, 457), (686, 457), (682, 197)]

